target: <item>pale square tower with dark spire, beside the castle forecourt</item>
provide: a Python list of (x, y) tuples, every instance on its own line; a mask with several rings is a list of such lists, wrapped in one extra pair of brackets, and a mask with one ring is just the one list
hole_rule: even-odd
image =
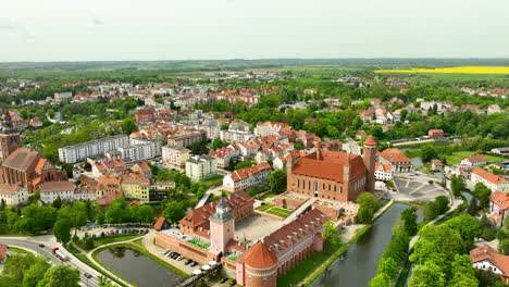
[(234, 239), (235, 217), (228, 212), (228, 205), (221, 199), (215, 213), (210, 217), (210, 244), (215, 250), (226, 251), (229, 240)]

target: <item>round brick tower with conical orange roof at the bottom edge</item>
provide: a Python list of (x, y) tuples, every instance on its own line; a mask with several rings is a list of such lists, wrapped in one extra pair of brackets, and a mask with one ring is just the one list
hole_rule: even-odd
[(277, 257), (258, 241), (244, 257), (244, 284), (252, 287), (275, 287), (277, 278)]

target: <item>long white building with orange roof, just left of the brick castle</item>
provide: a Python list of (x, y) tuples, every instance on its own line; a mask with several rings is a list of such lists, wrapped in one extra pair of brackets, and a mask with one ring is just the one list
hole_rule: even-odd
[(236, 170), (223, 178), (223, 189), (234, 192), (264, 185), (271, 170), (266, 162)]

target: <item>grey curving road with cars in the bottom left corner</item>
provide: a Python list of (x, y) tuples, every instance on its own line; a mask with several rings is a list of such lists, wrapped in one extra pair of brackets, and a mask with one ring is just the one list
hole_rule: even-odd
[[(70, 260), (64, 262), (64, 264), (69, 264), (74, 269), (77, 269), (79, 271), (79, 277), (80, 277), (80, 283), (79, 285), (82, 286), (88, 286), (88, 287), (98, 287), (99, 286), (99, 280), (97, 279), (99, 275), (101, 275), (99, 272), (97, 272), (95, 269), (88, 266), (87, 264), (83, 263), (79, 261), (79, 259), (75, 258), (72, 253), (66, 251), (64, 248), (62, 248), (61, 245), (54, 242), (54, 238), (49, 238), (52, 236), (37, 236), (37, 237), (0, 237), (0, 242), (12, 246), (12, 247), (18, 247), (23, 249), (30, 250), (35, 253), (40, 253), (47, 258), (50, 259), (50, 262), (52, 264), (59, 264), (62, 263), (59, 259), (57, 259), (53, 253), (51, 252), (51, 249), (53, 247), (59, 247), (59, 249), (64, 252), (66, 255), (69, 255)], [(38, 245), (44, 244), (45, 247), (40, 248)], [(85, 273), (91, 274), (94, 277), (88, 279), (85, 277)]]

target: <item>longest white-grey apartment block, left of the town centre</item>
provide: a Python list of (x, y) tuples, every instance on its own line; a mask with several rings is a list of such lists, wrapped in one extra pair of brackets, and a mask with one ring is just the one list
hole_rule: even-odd
[(86, 141), (59, 149), (59, 160), (63, 163), (76, 163), (87, 158), (97, 158), (105, 152), (129, 146), (126, 135), (117, 135), (97, 140)]

